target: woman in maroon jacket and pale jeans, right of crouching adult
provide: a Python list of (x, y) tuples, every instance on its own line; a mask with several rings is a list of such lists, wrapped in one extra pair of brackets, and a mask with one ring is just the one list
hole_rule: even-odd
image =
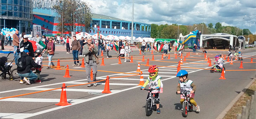
[(47, 43), (47, 57), (48, 57), (48, 67), (46, 69), (51, 69), (51, 64), (52, 66), (55, 66), (52, 62), (52, 57), (55, 53), (55, 44), (53, 43), (52, 41), (53, 39), (52, 38), (49, 38), (49, 42)]

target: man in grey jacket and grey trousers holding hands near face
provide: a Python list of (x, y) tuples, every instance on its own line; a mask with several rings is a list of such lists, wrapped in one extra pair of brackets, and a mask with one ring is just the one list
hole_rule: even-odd
[[(83, 54), (85, 55), (85, 70), (87, 75), (88, 82), (95, 82), (97, 75), (97, 64), (96, 64), (96, 53), (98, 53), (98, 47), (95, 44), (91, 44), (92, 39), (87, 39), (87, 43), (83, 46)], [(93, 56), (95, 55), (95, 56)], [(90, 71), (92, 68), (93, 80), (90, 77)], [(97, 83), (93, 83), (94, 86), (97, 86)], [(92, 84), (88, 84), (87, 87), (91, 87)]]

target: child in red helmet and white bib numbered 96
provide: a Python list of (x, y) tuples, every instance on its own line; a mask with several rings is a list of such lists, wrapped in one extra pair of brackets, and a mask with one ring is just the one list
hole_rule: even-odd
[[(159, 93), (163, 93), (163, 83), (161, 81), (161, 76), (158, 76), (158, 67), (156, 65), (152, 65), (149, 67), (149, 77), (147, 78), (147, 81), (145, 84), (141, 87), (141, 89), (145, 89), (147, 84), (149, 83), (149, 89), (156, 89), (152, 91), (152, 94), (155, 94), (155, 98), (158, 98), (156, 102), (156, 113), (160, 114), (160, 108), (159, 108)], [(149, 98), (149, 93), (147, 94), (147, 99)]]

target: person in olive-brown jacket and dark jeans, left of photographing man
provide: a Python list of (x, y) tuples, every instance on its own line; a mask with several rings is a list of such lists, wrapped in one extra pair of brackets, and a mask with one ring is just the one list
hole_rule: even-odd
[[(81, 44), (78, 40), (76, 40), (76, 36), (73, 36), (73, 41), (72, 41), (72, 54), (73, 54), (73, 59), (74, 59), (74, 64), (72, 66), (80, 66), (79, 64), (79, 59), (78, 59), (78, 52), (81, 49)], [(77, 64), (76, 64), (77, 62)]]

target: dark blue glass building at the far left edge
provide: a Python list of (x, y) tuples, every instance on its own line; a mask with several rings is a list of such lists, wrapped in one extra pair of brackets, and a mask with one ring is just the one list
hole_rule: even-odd
[(0, 0), (0, 28), (13, 27), (31, 34), (32, 5), (32, 0)]

